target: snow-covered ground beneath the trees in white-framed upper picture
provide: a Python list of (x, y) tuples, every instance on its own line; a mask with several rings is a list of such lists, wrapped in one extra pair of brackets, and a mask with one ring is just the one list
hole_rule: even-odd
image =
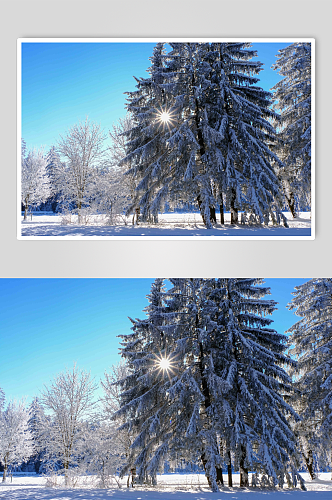
[(61, 215), (43, 214), (37, 212), (32, 220), (29, 216), (27, 221), (21, 220), (21, 236), (34, 237), (56, 237), (56, 238), (104, 238), (104, 237), (310, 237), (311, 219), (310, 212), (301, 212), (299, 217), (293, 219), (289, 212), (284, 212), (288, 219), (289, 228), (261, 227), (248, 225), (230, 225), (230, 213), (225, 214), (225, 225), (217, 224), (213, 229), (206, 229), (198, 213), (169, 213), (159, 216), (156, 225), (140, 223), (132, 225), (131, 217), (127, 219), (127, 225), (123, 222), (116, 226), (105, 225), (103, 216), (90, 218), (89, 224), (64, 224)]

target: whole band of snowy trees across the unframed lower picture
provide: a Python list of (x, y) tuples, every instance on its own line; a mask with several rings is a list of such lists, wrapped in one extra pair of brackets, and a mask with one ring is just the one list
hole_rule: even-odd
[(314, 479), (332, 467), (332, 279), (296, 287), (288, 307), (300, 320), (287, 335), (272, 328), (270, 293), (254, 278), (156, 279), (98, 404), (76, 367), (29, 411), (0, 393), (4, 479), (34, 454), (68, 485), (85, 474), (154, 485), (182, 460), (213, 491), (234, 472), (242, 487), (305, 489), (301, 470)]

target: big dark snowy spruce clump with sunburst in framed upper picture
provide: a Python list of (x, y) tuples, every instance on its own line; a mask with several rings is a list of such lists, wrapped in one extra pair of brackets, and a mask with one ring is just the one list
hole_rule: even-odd
[[(138, 180), (137, 203), (156, 214), (166, 201), (195, 200), (206, 227), (220, 207), (250, 212), (260, 223), (283, 218), (269, 149), (271, 94), (257, 87), (262, 64), (250, 43), (171, 43), (151, 58), (150, 78), (128, 93), (135, 127), (127, 157)], [(157, 62), (156, 62), (157, 61)]]

